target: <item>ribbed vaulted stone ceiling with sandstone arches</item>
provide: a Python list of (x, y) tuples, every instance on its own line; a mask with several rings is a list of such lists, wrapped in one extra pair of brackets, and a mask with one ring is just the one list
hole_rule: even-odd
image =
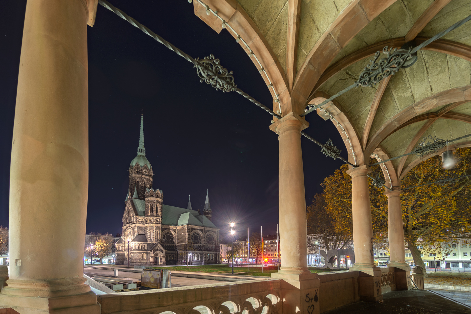
[[(471, 14), (469, 0), (195, 0), (195, 14), (218, 32), (221, 22), (200, 2), (244, 39), (282, 115), (301, 114), (353, 84), (383, 47), (418, 45)], [(471, 22), (419, 50), (413, 66), (351, 89), (317, 113), (337, 126), (357, 165), (408, 153), (424, 136), (470, 134)], [(470, 145), (471, 137), (451, 148)], [(420, 161), (409, 155), (385, 163), (390, 184)]]

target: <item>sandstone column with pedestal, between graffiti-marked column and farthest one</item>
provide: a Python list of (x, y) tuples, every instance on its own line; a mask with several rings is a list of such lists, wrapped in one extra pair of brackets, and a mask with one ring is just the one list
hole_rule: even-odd
[(355, 265), (350, 271), (360, 271), (358, 293), (361, 300), (376, 302), (382, 299), (381, 269), (374, 265), (373, 225), (371, 222), (368, 166), (347, 170), (352, 177), (352, 220)]

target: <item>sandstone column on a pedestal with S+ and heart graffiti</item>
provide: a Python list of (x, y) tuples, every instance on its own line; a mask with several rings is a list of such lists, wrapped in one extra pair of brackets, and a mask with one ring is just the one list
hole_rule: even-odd
[(306, 200), (301, 130), (309, 123), (288, 113), (270, 126), (279, 141), (279, 221), (281, 267), (271, 276), (283, 279), (283, 313), (318, 314), (320, 280), (307, 263)]

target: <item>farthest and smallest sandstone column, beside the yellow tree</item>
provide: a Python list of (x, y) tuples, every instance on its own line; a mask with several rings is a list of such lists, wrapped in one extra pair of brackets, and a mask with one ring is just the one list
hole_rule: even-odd
[(390, 263), (388, 266), (405, 267), (404, 223), (402, 221), (401, 190), (384, 192), (388, 197), (388, 241)]

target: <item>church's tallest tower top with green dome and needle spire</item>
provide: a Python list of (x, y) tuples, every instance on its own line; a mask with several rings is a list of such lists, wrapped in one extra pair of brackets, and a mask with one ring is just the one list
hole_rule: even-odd
[(141, 114), (141, 132), (139, 136), (138, 155), (131, 161), (129, 166), (129, 194), (134, 195), (137, 190), (139, 200), (145, 199), (146, 189), (152, 188), (152, 177), (154, 176), (152, 166), (146, 158), (144, 147), (144, 118)]

